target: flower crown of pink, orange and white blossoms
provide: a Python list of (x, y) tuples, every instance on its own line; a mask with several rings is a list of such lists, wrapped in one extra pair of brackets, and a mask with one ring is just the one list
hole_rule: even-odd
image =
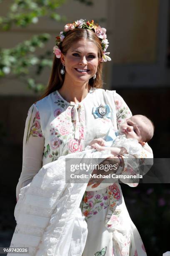
[(102, 49), (103, 49), (103, 55), (102, 55), (102, 60), (101, 61), (110, 61), (110, 57), (108, 56), (110, 52), (106, 52), (107, 47), (109, 46), (109, 42), (106, 39), (106, 29), (101, 28), (97, 23), (94, 23), (94, 20), (92, 21), (86, 21), (83, 19), (74, 21), (73, 23), (68, 23), (64, 27), (64, 31), (60, 32), (60, 36), (56, 37), (56, 46), (53, 47), (53, 53), (57, 58), (61, 57), (61, 50), (59, 49), (60, 43), (63, 41), (65, 36), (67, 35), (67, 32), (70, 30), (73, 30), (75, 28), (86, 28), (93, 30), (95, 34), (100, 38), (101, 44), (102, 44)]

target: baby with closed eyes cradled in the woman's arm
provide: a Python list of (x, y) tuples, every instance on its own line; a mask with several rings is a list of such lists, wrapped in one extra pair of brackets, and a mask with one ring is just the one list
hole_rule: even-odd
[(107, 138), (114, 137), (110, 135), (111, 133), (113, 134), (114, 132), (110, 130), (106, 140), (103, 138), (92, 140), (89, 146), (97, 151), (110, 149), (111, 154), (114, 156), (135, 154), (135, 151), (141, 150), (141, 146), (144, 146), (153, 137), (154, 125), (144, 115), (133, 115), (120, 124), (118, 131), (115, 132), (115, 139), (113, 138), (111, 141), (111, 147), (108, 147)]

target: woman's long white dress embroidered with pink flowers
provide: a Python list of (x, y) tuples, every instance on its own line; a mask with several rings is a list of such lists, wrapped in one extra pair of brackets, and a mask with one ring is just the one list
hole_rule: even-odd
[[(109, 105), (109, 118), (95, 118), (93, 115), (93, 107), (100, 104)], [(119, 123), (130, 116), (131, 112), (120, 95), (115, 91), (95, 88), (91, 88), (77, 105), (65, 101), (58, 91), (33, 104), (25, 124), (23, 169), (17, 185), (17, 199), (20, 189), (33, 179), (42, 166), (60, 156), (81, 152), (92, 139), (105, 136), (109, 128), (117, 130)], [(97, 133), (94, 130), (96, 126), (102, 127)], [(153, 157), (148, 145), (138, 154), (138, 158), (142, 157)], [(131, 166), (125, 161), (124, 172), (130, 170)], [(146, 255), (119, 184), (98, 191), (86, 191), (80, 206), (88, 230), (83, 256)]]

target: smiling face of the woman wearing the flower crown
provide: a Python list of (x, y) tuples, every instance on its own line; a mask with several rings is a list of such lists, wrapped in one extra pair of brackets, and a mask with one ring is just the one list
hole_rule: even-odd
[(87, 39), (75, 42), (61, 55), (62, 64), (65, 65), (65, 78), (72, 82), (84, 83), (97, 72), (99, 63), (97, 46)]

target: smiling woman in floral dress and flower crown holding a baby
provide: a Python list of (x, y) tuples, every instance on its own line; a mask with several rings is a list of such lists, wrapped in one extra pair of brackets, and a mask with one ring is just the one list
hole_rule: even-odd
[[(17, 200), (20, 189), (29, 187), (42, 166), (60, 156), (81, 152), (92, 139), (105, 136), (110, 127), (117, 130), (122, 120), (132, 115), (115, 91), (98, 89), (102, 87), (102, 62), (110, 60), (105, 52), (107, 46), (105, 28), (100, 28), (93, 20), (86, 22), (81, 19), (69, 23), (57, 37), (47, 91), (28, 111)], [(147, 144), (138, 157), (153, 157)], [(132, 172), (130, 162), (125, 160), (123, 156), (115, 157), (119, 172)], [(100, 181), (95, 180), (93, 187), (99, 184)], [(146, 255), (139, 233), (128, 215), (119, 184), (98, 191), (86, 191), (81, 210), (81, 218), (78, 219), (75, 214), (72, 234), (66, 234), (66, 237), (70, 235), (67, 255)], [(81, 225), (85, 226), (84, 218), (88, 230), (84, 242), (81, 243), (78, 235), (76, 242), (72, 241), (73, 236), (75, 238), (76, 234), (80, 234), (78, 228), (80, 231)], [(24, 228), (22, 232), (24, 234)], [(35, 254), (30, 252), (29, 255)], [(60, 255), (66, 254), (60, 250)]]

